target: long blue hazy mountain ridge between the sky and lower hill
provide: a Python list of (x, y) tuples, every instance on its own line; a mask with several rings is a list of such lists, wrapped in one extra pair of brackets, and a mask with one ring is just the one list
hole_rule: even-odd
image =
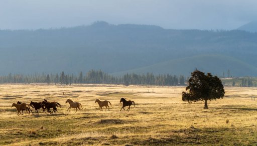
[[(91, 69), (116, 73), (209, 53), (257, 67), (256, 40), (257, 34), (240, 30), (167, 30), (106, 22), (49, 30), (1, 30), (0, 75), (43, 71), (77, 74)], [(251, 74), (255, 73), (247, 72)]]

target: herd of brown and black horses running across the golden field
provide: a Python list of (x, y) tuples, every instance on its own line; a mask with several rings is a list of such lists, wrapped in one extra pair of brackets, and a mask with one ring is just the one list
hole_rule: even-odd
[[(67, 99), (65, 103), (67, 103), (67, 102), (70, 104), (70, 107), (68, 108), (68, 110), (71, 109), (71, 108), (76, 108), (76, 112), (78, 111), (78, 109), (79, 109), (79, 112), (80, 112), (80, 107), (81, 107), (82, 110), (83, 110), (83, 107), (82, 107), (81, 103), (79, 103), (79, 102), (74, 102), (74, 101), (72, 101), (71, 99)], [(94, 103), (96, 103), (96, 102), (98, 103), (100, 110), (102, 110), (102, 107), (103, 107), (103, 106), (105, 106), (106, 109), (107, 109), (107, 107), (108, 107), (108, 110), (110, 110), (110, 109), (109, 109), (109, 105), (108, 105), (108, 103), (110, 103), (109, 101), (107, 101), (107, 100), (101, 101), (101, 100), (99, 100), (99, 99), (96, 99)], [(134, 106), (135, 106), (135, 102), (134, 102), (134, 101), (131, 101), (131, 100), (126, 101), (125, 98), (121, 98), (120, 101), (119, 101), (119, 103), (120, 103), (120, 102), (123, 103), (121, 109), (122, 109), (122, 108), (124, 109), (125, 106), (129, 106), (129, 108), (127, 108), (127, 110), (130, 111), (130, 107), (131, 107), (132, 103), (134, 103)], [(55, 101), (49, 102), (49, 101), (47, 101), (46, 99), (44, 99), (42, 102), (33, 102), (33, 101), (31, 101), (30, 104), (22, 103), (22, 102), (18, 101), (17, 103), (13, 103), (12, 107), (13, 107), (13, 106), (15, 106), (16, 109), (18, 110), (18, 115), (20, 115), (20, 114), (23, 115), (23, 111), (24, 111), (24, 110), (26, 110), (26, 114), (27, 114), (27, 113), (30, 114), (30, 111), (32, 112), (32, 110), (31, 110), (30, 107), (34, 108), (37, 113), (38, 113), (38, 109), (42, 108), (42, 109), (43, 109), (43, 112), (46, 113), (46, 109), (47, 109), (47, 112), (49, 112), (50, 114), (52, 114), (52, 113), (57, 113), (57, 112), (58, 112), (58, 111), (57, 111), (57, 107), (61, 107), (61, 104), (58, 103), (58, 102), (55, 102)], [(110, 106), (112, 106), (111, 103), (110, 103)], [(135, 107), (136, 107), (136, 106), (135, 106)], [(51, 108), (53, 108), (53, 111), (51, 111)], [(106, 109), (105, 109), (105, 111), (106, 111)], [(120, 109), (119, 111), (121, 111), (121, 109)], [(67, 110), (66, 112), (68, 112), (68, 110)], [(124, 110), (125, 110), (125, 109), (124, 109)], [(21, 113), (21, 111), (22, 111), (22, 113)], [(103, 110), (102, 110), (102, 111), (103, 111)], [(43, 113), (43, 112), (42, 112), (42, 113)], [(70, 110), (69, 110), (69, 112), (70, 112)], [(75, 113), (76, 113), (76, 112), (75, 112)], [(32, 112), (32, 114), (33, 114), (33, 112)]]

